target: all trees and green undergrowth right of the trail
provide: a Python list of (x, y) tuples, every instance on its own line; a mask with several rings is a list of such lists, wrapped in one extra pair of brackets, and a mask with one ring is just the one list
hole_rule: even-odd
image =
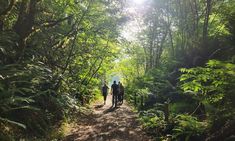
[[(140, 32), (137, 40), (124, 43), (128, 57), (119, 69), (127, 98), (159, 140), (234, 135), (234, 4), (150, 0), (135, 15)], [(148, 90), (144, 104), (142, 90)]]

